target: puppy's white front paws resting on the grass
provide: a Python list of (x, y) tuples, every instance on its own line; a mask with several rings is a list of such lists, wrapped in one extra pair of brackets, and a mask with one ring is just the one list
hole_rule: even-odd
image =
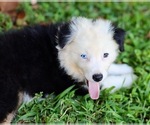
[(120, 88), (130, 88), (137, 76), (133, 74), (132, 67), (127, 64), (112, 64), (108, 70), (107, 78), (101, 83), (102, 90), (114, 87), (111, 92)]

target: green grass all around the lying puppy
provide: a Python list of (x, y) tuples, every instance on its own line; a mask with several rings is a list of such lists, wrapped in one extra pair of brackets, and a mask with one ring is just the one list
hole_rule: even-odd
[[(147, 123), (150, 124), (150, 3), (39, 3), (33, 9), (29, 3), (18, 8), (25, 10), (28, 25), (66, 21), (72, 16), (103, 17), (118, 23), (127, 31), (125, 52), (117, 59), (134, 68), (138, 79), (131, 89), (109, 94), (101, 92), (97, 101), (74, 95), (68, 88), (54, 97), (41, 99), (42, 93), (23, 104), (13, 123)], [(2, 21), (1, 21), (2, 20)], [(13, 28), (8, 16), (0, 14), (0, 30)], [(40, 98), (40, 99), (39, 99)]]

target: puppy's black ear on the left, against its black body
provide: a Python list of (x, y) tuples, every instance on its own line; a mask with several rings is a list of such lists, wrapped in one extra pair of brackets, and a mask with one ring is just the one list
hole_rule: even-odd
[(70, 22), (61, 24), (58, 27), (57, 33), (58, 45), (61, 49), (63, 49), (66, 44), (70, 43), (70, 37), (71, 37)]

